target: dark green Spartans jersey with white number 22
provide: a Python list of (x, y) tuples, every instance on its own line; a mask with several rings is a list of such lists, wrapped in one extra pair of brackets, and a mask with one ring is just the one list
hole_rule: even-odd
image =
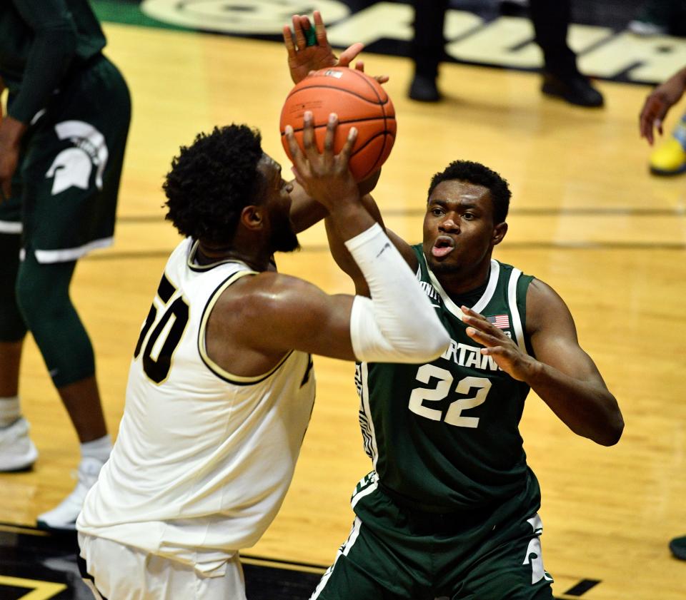
[[(519, 422), (529, 387), (503, 372), (465, 332), (462, 311), (427, 267), (417, 278), (451, 337), (424, 365), (359, 363), (356, 383), (364, 448), (377, 481), (403, 504), (427, 512), (482, 509), (530, 485)], [(472, 306), (524, 350), (529, 275), (491, 260), (482, 297)]]

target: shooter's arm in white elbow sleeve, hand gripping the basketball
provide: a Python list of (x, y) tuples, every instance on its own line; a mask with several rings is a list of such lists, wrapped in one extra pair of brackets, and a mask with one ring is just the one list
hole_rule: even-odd
[[(414, 274), (360, 203), (348, 168), (357, 132), (351, 129), (344, 148), (334, 156), (336, 126), (332, 116), (321, 154), (314, 143), (311, 113), (305, 114), (304, 151), (298, 148), (292, 128), (286, 132), (287, 140), (297, 180), (327, 209), (332, 228), (364, 274), (372, 299), (329, 296), (279, 273), (244, 278), (229, 286), (212, 312), (210, 332), (214, 327), (217, 334), (212, 335), (211, 352), (217, 353), (213, 360), (222, 353), (226, 335), (249, 348), (264, 366), (276, 364), (289, 350), (347, 360), (422, 362), (433, 360), (447, 347), (449, 336)], [(229, 358), (226, 363), (235, 369), (237, 363)]]

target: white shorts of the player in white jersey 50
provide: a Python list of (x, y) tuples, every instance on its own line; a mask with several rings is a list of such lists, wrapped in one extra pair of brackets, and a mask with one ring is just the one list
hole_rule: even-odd
[(96, 600), (246, 600), (238, 553), (223, 576), (203, 576), (192, 566), (79, 533), (81, 557), (94, 581)]

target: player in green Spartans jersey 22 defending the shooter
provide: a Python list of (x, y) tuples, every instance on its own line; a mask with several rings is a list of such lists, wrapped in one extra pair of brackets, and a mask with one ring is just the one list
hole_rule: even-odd
[[(284, 35), (292, 76), (299, 62), (318, 66), (297, 35), (307, 24), (293, 22), (296, 46)], [(429, 185), (423, 242), (387, 230), (452, 341), (431, 362), (357, 365), (373, 470), (354, 490), (352, 532), (312, 600), (552, 599), (540, 488), (518, 427), (527, 394), (599, 444), (617, 443), (624, 423), (562, 298), (492, 258), (509, 198), (497, 173), (455, 161)], [(371, 196), (364, 200), (382, 223)], [(328, 223), (327, 233), (337, 263), (367, 295)]]

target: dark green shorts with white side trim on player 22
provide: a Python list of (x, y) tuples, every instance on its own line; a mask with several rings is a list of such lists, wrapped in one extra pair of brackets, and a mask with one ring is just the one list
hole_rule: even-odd
[(496, 510), (429, 514), (399, 507), (374, 473), (352, 499), (352, 532), (310, 600), (552, 600), (537, 490)]

